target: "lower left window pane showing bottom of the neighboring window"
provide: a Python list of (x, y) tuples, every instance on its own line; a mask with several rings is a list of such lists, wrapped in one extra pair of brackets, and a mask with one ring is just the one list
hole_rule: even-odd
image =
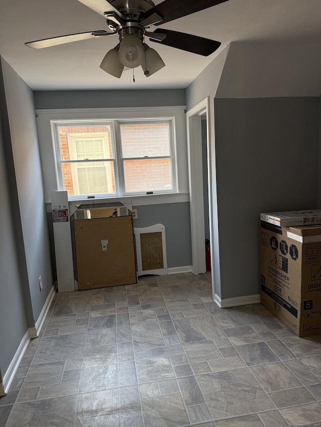
[(64, 188), (68, 196), (116, 192), (114, 163), (62, 163)]

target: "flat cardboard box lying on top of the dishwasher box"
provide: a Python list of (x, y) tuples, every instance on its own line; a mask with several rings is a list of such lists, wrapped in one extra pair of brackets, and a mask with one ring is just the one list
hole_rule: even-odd
[(261, 213), (261, 221), (269, 222), (279, 227), (321, 224), (321, 209), (289, 212), (264, 212)]

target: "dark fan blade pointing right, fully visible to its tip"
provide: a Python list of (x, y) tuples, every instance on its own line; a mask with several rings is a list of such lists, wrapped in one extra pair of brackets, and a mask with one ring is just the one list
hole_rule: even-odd
[[(152, 34), (155, 34), (155, 38), (152, 38)], [(166, 38), (163, 41), (158, 40), (160, 34), (166, 34)], [(151, 42), (203, 55), (204, 57), (211, 55), (221, 46), (221, 43), (215, 40), (193, 36), (192, 34), (179, 33), (178, 31), (165, 30), (164, 28), (157, 29), (153, 33), (148, 33), (148, 37)]]

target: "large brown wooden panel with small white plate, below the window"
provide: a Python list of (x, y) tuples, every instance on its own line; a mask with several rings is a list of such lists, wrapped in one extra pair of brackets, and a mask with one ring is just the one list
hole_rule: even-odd
[(131, 216), (74, 221), (78, 289), (137, 283)]

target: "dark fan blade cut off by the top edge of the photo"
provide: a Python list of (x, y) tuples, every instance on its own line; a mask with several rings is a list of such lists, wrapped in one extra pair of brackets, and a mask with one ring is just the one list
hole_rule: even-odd
[(153, 14), (158, 14), (163, 17), (163, 21), (155, 23), (154, 25), (161, 25), (227, 1), (228, 0), (165, 0), (146, 11), (143, 15), (143, 19), (145, 20)]

